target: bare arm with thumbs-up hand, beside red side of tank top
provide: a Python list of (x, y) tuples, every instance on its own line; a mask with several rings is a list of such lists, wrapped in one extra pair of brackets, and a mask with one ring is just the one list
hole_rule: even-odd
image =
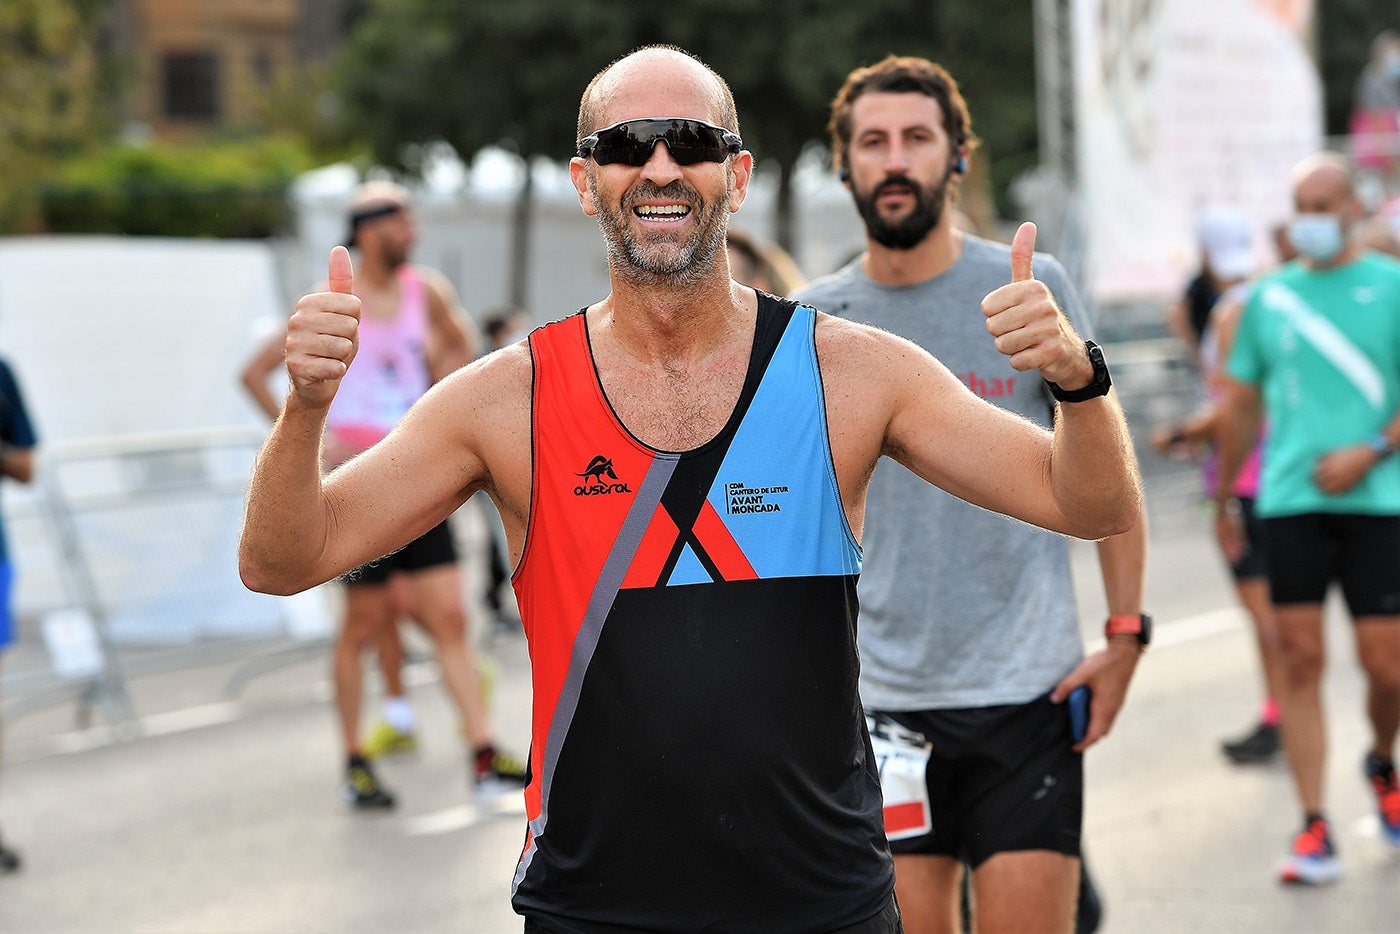
[[(344, 262), (332, 265), (336, 291), (307, 295), (288, 322), (291, 391), (253, 466), (239, 574), (256, 591), (293, 594), (386, 555), (483, 487), (511, 507), (503, 508), (507, 532), (521, 536), (529, 489), (524, 346), (452, 374), (388, 438), (322, 479), (322, 430), (354, 358), (360, 308), (349, 294), (349, 256), (336, 252)], [(524, 454), (512, 459), (510, 451)], [(507, 483), (493, 483), (493, 473)]]

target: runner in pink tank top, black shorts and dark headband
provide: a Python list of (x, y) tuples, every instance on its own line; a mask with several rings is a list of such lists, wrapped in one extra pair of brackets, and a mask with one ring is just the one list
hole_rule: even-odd
[[(346, 379), (347, 392), (328, 420), (322, 465), (337, 469), (378, 444), (427, 389), (470, 363), (473, 342), (462, 323), (455, 290), (442, 273), (407, 262), (416, 227), (407, 190), (388, 182), (367, 182), (350, 199), (347, 239), (360, 251), (356, 281), (363, 302), (365, 340), (363, 365)], [(244, 385), (258, 405), (277, 419), (281, 406), (267, 389), (267, 377), (281, 364), (284, 335), (277, 333), (248, 363)], [(346, 584), (344, 623), (332, 660), (336, 709), (346, 748), (346, 800), (356, 808), (389, 808), (395, 797), (370, 765), (371, 742), (381, 731), (360, 737), (363, 672), (360, 655), (382, 646), (400, 616), (412, 618), (431, 637), (442, 685), (456, 707), (470, 746), (470, 777), (477, 791), (525, 784), (524, 760), (500, 752), (486, 716), (486, 697), (466, 639), (462, 576), (452, 532), (444, 521), (398, 552), (342, 577)], [(388, 681), (388, 679), (386, 679)], [(386, 706), (386, 713), (391, 709)], [(384, 725), (384, 724), (381, 724)], [(398, 727), (399, 724), (388, 724)], [(381, 744), (382, 748), (382, 744)]]

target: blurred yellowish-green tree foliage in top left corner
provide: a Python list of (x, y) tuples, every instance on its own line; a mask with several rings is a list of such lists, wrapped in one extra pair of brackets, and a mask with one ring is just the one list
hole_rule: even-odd
[(0, 1), (0, 232), (38, 224), (35, 192), (56, 153), (106, 127), (94, 53), (105, 0)]

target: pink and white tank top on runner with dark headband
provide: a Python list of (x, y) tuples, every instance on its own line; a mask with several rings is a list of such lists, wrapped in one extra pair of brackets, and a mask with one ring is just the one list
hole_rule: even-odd
[(360, 350), (326, 417), (336, 440), (354, 451), (382, 440), (433, 384), (426, 356), (427, 291), (407, 263), (398, 276), (398, 314), (360, 318)]

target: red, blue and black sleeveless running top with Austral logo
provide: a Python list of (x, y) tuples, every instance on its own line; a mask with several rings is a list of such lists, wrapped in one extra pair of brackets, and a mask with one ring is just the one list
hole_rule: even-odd
[(582, 314), (531, 336), (514, 906), (546, 930), (826, 931), (889, 899), (815, 321), (760, 294), (739, 400), (685, 452), (617, 419)]

